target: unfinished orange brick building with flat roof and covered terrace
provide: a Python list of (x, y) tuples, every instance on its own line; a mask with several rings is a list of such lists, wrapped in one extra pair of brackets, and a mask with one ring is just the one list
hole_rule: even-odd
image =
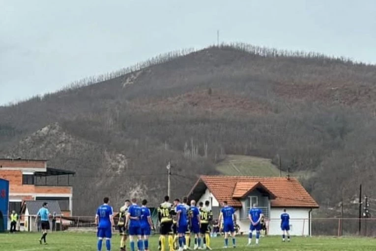
[(64, 216), (72, 216), (75, 172), (47, 167), (47, 160), (0, 158), (0, 178), (9, 181), (9, 212), (20, 213), (24, 201), (58, 201)]

